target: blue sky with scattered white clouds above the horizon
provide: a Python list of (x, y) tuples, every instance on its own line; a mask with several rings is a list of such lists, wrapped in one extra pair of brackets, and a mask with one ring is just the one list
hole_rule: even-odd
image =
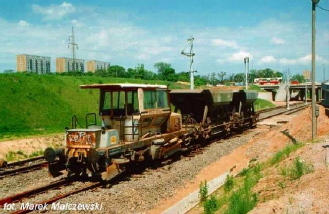
[[(77, 58), (125, 68), (170, 63), (189, 70), (181, 55), (194, 38), (200, 75), (272, 68), (311, 70), (311, 0), (0, 0), (0, 72), (16, 70), (16, 54), (70, 57), (74, 26)], [(319, 6), (328, 9), (329, 0)], [(317, 8), (317, 80), (329, 79), (329, 12)]]

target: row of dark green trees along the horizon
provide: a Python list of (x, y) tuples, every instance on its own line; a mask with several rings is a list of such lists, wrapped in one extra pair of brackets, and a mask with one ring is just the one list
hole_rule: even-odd
[[(190, 82), (190, 72), (178, 72), (176, 73), (175, 69), (171, 64), (166, 62), (157, 62), (154, 64), (154, 68), (157, 70), (157, 73), (147, 70), (144, 64), (138, 64), (135, 68), (125, 69), (120, 65), (111, 65), (108, 69), (99, 69), (93, 72), (81, 72), (81, 71), (70, 71), (58, 73), (57, 75), (67, 75), (67, 76), (102, 76), (102, 77), (113, 77), (113, 78), (134, 78), (134, 79), (144, 79), (144, 80), (165, 80), (171, 82)], [(283, 80), (287, 79), (285, 73), (275, 71), (270, 68), (266, 69), (252, 69), (248, 75), (248, 82), (252, 83), (255, 78), (274, 78), (282, 77)], [(303, 82), (303, 75), (295, 74), (290, 80), (297, 80)], [(194, 75), (194, 84), (196, 86), (201, 85), (217, 85), (225, 84), (227, 82), (245, 82), (245, 73), (231, 73), (229, 75), (224, 71), (218, 73), (212, 72), (208, 75)]]

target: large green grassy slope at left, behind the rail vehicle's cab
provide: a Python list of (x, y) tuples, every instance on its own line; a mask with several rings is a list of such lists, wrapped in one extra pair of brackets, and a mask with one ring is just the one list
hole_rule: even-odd
[(0, 139), (60, 132), (70, 126), (73, 114), (83, 117), (98, 112), (99, 91), (82, 90), (79, 85), (127, 82), (186, 88), (172, 82), (140, 79), (0, 74)]

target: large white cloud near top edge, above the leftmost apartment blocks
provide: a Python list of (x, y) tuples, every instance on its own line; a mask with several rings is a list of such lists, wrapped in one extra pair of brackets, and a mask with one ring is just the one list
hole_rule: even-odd
[(59, 5), (50, 5), (46, 7), (37, 4), (32, 5), (34, 12), (44, 15), (44, 20), (59, 20), (64, 16), (75, 12), (75, 7), (71, 3), (63, 2)]

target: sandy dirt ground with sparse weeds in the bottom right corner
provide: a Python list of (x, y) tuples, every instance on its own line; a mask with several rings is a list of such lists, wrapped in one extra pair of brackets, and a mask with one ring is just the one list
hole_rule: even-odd
[[(259, 203), (250, 214), (328, 214), (329, 213), (329, 136), (323, 143), (308, 144), (264, 172), (254, 187)], [(312, 164), (314, 172), (300, 179), (289, 178), (295, 158)], [(287, 174), (284, 169), (287, 168)], [(291, 170), (291, 169), (290, 169)]]

